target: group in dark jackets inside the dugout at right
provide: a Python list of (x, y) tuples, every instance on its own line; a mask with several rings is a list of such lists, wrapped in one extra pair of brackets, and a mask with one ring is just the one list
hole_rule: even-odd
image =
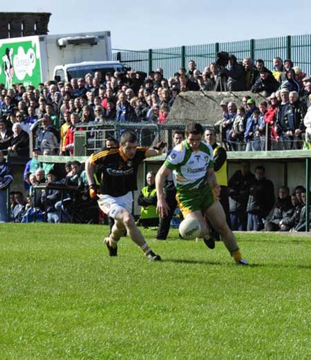
[[(252, 173), (249, 163), (242, 162), (229, 179), (228, 194), (233, 230), (305, 231), (305, 188), (298, 185), (290, 193), (287, 186), (281, 186), (275, 199), (274, 184), (262, 166)], [(308, 211), (311, 216), (311, 207)]]

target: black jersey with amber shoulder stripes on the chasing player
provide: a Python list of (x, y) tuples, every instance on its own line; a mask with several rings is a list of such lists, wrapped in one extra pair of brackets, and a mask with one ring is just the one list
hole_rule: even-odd
[(90, 160), (98, 166), (100, 193), (117, 197), (137, 190), (138, 167), (146, 152), (147, 148), (138, 146), (133, 159), (126, 158), (120, 148), (93, 153)]

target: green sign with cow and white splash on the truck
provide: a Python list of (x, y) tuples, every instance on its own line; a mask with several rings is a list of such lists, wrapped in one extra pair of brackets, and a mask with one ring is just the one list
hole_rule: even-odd
[(39, 39), (9, 41), (0, 41), (0, 82), (6, 88), (20, 82), (37, 86), (41, 82)]

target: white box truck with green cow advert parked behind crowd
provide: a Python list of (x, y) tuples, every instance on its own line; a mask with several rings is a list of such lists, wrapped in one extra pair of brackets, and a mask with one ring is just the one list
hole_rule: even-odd
[(37, 86), (95, 71), (122, 72), (122, 64), (111, 57), (110, 31), (0, 39), (0, 83)]

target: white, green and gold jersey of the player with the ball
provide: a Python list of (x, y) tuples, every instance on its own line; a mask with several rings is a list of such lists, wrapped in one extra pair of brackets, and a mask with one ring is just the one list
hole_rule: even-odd
[(184, 140), (169, 153), (165, 166), (173, 171), (177, 190), (199, 189), (207, 182), (207, 170), (214, 169), (213, 159), (213, 149), (206, 142), (193, 151)]

